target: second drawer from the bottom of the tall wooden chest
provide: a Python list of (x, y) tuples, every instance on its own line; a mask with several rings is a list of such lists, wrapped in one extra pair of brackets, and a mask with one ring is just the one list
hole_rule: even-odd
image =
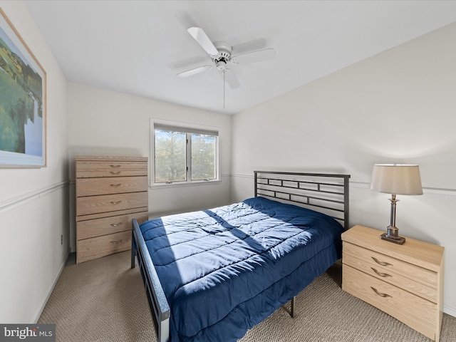
[(138, 223), (144, 222), (148, 218), (147, 212), (135, 212), (132, 214), (118, 215), (113, 217), (103, 217), (101, 219), (89, 219), (87, 221), (76, 222), (76, 238), (78, 240), (101, 235), (113, 234), (131, 230), (131, 220), (136, 218)]

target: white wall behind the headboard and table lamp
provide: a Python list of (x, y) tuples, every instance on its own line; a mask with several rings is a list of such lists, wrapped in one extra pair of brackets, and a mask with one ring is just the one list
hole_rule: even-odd
[[(423, 196), (398, 197), (405, 237), (445, 247), (445, 312), (456, 316), (456, 24), (279, 96), (232, 121), (232, 200), (254, 170), (351, 174), (351, 225), (385, 229), (378, 162), (420, 165)], [(311, 68), (312, 66), (300, 66)]]

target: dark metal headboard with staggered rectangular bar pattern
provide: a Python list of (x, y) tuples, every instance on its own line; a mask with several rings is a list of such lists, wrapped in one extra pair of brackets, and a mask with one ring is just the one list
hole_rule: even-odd
[(349, 228), (350, 175), (277, 171), (254, 171), (254, 175), (255, 196), (316, 207)]

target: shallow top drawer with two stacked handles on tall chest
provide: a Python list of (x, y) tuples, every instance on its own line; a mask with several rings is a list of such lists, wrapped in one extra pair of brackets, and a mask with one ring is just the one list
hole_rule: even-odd
[(76, 163), (76, 178), (147, 176), (147, 163), (127, 161), (85, 161)]

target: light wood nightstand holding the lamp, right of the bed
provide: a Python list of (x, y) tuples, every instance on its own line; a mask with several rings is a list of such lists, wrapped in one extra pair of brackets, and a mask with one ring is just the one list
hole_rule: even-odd
[(410, 238), (393, 244), (382, 233), (355, 226), (342, 234), (342, 289), (439, 341), (444, 248)]

